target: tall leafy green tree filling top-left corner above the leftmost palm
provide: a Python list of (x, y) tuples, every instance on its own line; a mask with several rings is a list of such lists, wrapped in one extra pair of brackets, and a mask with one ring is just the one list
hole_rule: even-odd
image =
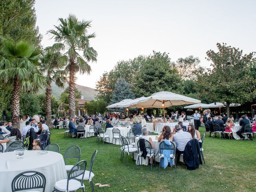
[(1, 0), (0, 36), (40, 46), (42, 36), (36, 26), (34, 4), (35, 0)]

